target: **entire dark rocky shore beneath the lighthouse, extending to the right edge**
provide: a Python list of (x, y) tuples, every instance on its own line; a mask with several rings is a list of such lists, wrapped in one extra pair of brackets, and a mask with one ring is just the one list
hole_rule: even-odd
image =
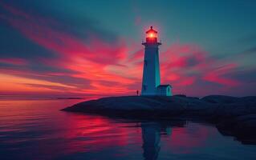
[(103, 114), (125, 118), (189, 118), (217, 124), (225, 135), (256, 142), (256, 97), (235, 98), (211, 95), (205, 98), (185, 96), (124, 96), (80, 102), (63, 110)]

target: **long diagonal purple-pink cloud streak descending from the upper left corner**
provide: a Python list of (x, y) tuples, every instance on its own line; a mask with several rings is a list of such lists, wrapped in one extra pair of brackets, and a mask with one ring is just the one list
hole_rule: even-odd
[(126, 46), (124, 42), (117, 42), (113, 46), (95, 36), (90, 38), (90, 42), (85, 42), (71, 34), (56, 30), (55, 26), (59, 24), (52, 19), (32, 16), (7, 5), (4, 5), (4, 8), (11, 15), (5, 15), (2, 18), (26, 38), (48, 50), (65, 54), (69, 58), (79, 56), (102, 64), (115, 64), (125, 57)]

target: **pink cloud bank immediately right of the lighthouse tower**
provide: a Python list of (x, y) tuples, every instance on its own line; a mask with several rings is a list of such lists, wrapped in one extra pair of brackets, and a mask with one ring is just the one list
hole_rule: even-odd
[(221, 92), (214, 84), (226, 88), (241, 84), (238, 80), (226, 76), (237, 70), (238, 64), (212, 58), (200, 46), (174, 43), (160, 55), (162, 82), (172, 84), (177, 94), (195, 94), (194, 90), (200, 94), (210, 94), (212, 90), (213, 94), (216, 90)]

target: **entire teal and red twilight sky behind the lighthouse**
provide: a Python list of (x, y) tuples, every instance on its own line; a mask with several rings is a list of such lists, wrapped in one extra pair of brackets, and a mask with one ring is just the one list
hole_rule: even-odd
[(256, 94), (254, 0), (0, 0), (0, 95), (140, 90), (144, 31), (158, 30), (174, 94)]

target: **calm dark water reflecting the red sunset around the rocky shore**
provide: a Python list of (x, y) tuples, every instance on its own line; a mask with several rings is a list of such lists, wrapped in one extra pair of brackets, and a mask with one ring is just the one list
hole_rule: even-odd
[(256, 146), (196, 122), (59, 111), (84, 100), (0, 100), (0, 159), (256, 159)]

